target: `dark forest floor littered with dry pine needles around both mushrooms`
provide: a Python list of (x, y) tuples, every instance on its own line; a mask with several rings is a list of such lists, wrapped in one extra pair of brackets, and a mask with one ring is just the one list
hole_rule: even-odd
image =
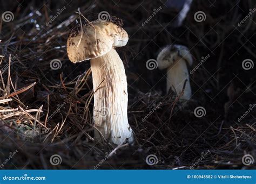
[[(247, 58), (255, 61), (252, 43), (256, 41), (256, 25), (250, 19), (234, 27), (255, 7), (253, 1), (240, 2), (239, 8), (235, 2), (216, 2), (215, 6), (221, 7), (218, 12), (208, 1), (196, 1), (179, 28), (170, 24), (177, 12), (161, 2), (140, 5), (122, 1), (118, 6), (107, 2), (72, 1), (71, 6), (54, 1), (45, 5), (26, 2), (26, 7), (32, 8), (2, 3), (3, 9), (14, 12), (15, 20), (0, 23), (4, 56), (0, 58), (0, 164), (18, 150), (3, 169), (93, 169), (105, 160), (106, 152), (116, 148), (93, 140), (90, 63), (74, 65), (66, 55), (66, 39), (75, 26), (78, 7), (89, 20), (97, 18), (100, 11), (122, 18), (130, 34), (129, 45), (118, 52), (129, 61), (128, 115), (136, 141), (133, 146), (116, 148), (99, 169), (189, 169), (207, 150), (211, 154), (195, 168), (255, 168), (241, 162), (244, 154), (256, 159), (255, 109), (242, 121), (238, 118), (249, 104), (255, 104), (255, 72), (242, 69), (241, 62)], [(50, 15), (63, 6), (66, 9), (45, 26)], [(152, 13), (145, 9), (159, 6), (163, 10), (142, 27), (141, 22)], [(49, 7), (54, 7), (52, 12)], [(207, 17), (200, 24), (193, 19), (199, 10)], [(145, 67), (160, 47), (170, 43), (191, 48), (194, 66), (202, 56), (211, 55), (191, 76), (194, 95), (185, 104), (174, 94), (164, 95), (165, 72)], [(59, 59), (62, 67), (51, 69), (53, 59)], [(201, 118), (193, 112), (199, 106), (206, 109)], [(62, 157), (61, 165), (50, 164), (53, 154)], [(149, 154), (158, 157), (157, 165), (146, 164)]]

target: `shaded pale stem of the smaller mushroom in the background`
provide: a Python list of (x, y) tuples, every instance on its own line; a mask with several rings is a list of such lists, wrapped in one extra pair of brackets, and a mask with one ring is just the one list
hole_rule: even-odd
[(179, 95), (183, 90), (185, 80), (187, 80), (187, 82), (184, 89), (184, 94), (180, 98), (190, 100), (190, 77), (188, 74), (186, 61), (184, 59), (180, 59), (178, 62), (174, 62), (173, 65), (167, 69), (167, 92), (170, 90), (170, 88), (172, 88), (172, 90), (176, 91), (177, 95)]

